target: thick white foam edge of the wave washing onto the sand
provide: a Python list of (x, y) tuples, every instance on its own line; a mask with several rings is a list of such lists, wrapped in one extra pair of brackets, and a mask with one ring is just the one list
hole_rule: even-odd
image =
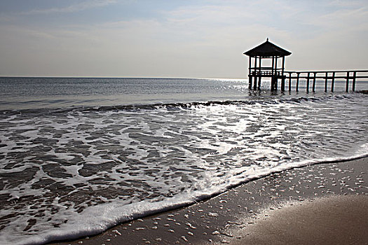
[[(301, 162), (292, 162), (289, 165), (278, 165), (270, 169), (262, 169), (262, 171), (247, 176), (243, 180), (232, 183), (230, 182), (227, 184), (227, 186), (217, 186), (207, 190), (182, 193), (175, 197), (168, 198), (159, 202), (151, 202), (147, 200), (128, 204), (123, 207), (114, 203), (104, 204), (97, 207), (90, 207), (83, 211), (83, 218), (76, 216), (74, 220), (70, 221), (69, 228), (46, 231), (43, 232), (42, 235), (37, 235), (22, 240), (19, 244), (45, 244), (50, 241), (71, 240), (77, 239), (79, 237), (97, 235), (121, 223), (126, 223), (138, 218), (144, 218), (155, 214), (161, 214), (167, 211), (172, 211), (174, 209), (188, 207), (190, 205), (196, 204), (196, 202), (207, 200), (209, 198), (220, 195), (227, 190), (231, 190), (232, 188), (236, 188), (245, 183), (249, 183), (250, 181), (270, 176), (271, 174), (280, 173), (289, 169), (306, 167), (308, 165), (339, 163), (349, 160), (358, 160), (360, 158), (367, 158), (367, 150), (368, 144), (364, 144), (354, 155), (346, 158), (305, 160)], [(98, 223), (95, 223), (96, 216), (99, 217)]]

